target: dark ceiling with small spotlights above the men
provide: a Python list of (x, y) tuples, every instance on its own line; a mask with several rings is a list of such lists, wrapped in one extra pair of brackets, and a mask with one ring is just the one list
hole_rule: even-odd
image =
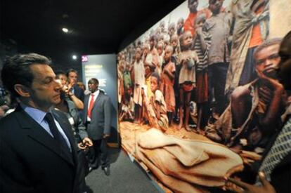
[[(136, 35), (141, 35), (182, 2), (0, 0), (0, 37), (16, 41), (19, 52), (41, 53), (62, 64), (70, 62), (72, 54), (117, 53), (136, 27), (141, 30)], [(63, 27), (69, 33), (63, 33)]]

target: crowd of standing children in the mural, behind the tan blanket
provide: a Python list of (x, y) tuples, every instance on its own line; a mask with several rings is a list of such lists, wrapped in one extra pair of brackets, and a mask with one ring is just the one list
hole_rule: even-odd
[(119, 53), (119, 121), (166, 131), (176, 120), (178, 130), (192, 131), (190, 104), (195, 101), (194, 131), (201, 133), (213, 114), (224, 111), (231, 14), (222, 4), (210, 0), (208, 8), (198, 11), (198, 1), (188, 1), (186, 20), (169, 22), (168, 29), (162, 21), (144, 41)]

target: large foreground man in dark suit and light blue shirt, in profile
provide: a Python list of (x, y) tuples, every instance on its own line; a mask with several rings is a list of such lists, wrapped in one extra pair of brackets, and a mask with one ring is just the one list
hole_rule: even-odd
[(1, 77), (19, 105), (0, 120), (0, 192), (80, 192), (77, 148), (70, 123), (51, 110), (60, 102), (48, 58), (15, 55)]

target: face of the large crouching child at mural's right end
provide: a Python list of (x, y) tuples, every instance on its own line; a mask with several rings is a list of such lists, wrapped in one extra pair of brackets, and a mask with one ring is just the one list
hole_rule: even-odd
[(258, 72), (266, 72), (269, 69), (278, 69), (280, 57), (278, 55), (279, 44), (268, 46), (254, 55)]

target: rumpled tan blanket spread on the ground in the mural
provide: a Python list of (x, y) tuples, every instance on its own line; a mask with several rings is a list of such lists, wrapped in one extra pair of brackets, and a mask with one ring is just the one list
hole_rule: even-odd
[[(138, 135), (137, 157), (174, 192), (207, 192), (224, 176), (243, 169), (243, 160), (227, 147), (202, 140), (183, 140), (151, 128)], [(201, 185), (201, 186), (200, 186)]]

